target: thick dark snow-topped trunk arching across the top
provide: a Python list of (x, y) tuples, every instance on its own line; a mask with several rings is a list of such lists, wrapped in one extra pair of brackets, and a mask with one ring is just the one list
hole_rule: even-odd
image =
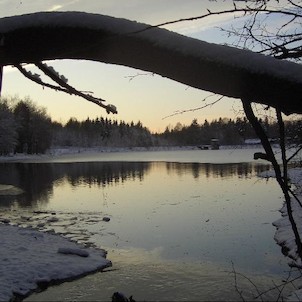
[[(148, 30), (145, 30), (149, 28)], [(302, 113), (302, 66), (125, 19), (48, 12), (0, 19), (0, 66), (85, 59)]]

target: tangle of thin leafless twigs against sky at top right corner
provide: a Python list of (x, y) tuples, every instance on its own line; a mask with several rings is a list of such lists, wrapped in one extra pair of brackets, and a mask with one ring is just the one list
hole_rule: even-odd
[[(209, 2), (225, 2), (209, 0)], [(217, 15), (230, 15), (234, 22), (221, 27), (230, 38), (229, 44), (242, 49), (299, 61), (302, 57), (301, 0), (232, 0), (232, 8), (207, 10), (205, 14), (167, 21), (165, 26), (183, 21), (195, 21)]]

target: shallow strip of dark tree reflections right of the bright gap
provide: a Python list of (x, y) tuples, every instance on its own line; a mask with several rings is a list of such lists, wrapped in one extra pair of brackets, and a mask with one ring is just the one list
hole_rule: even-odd
[(194, 178), (240, 177), (249, 178), (260, 172), (268, 170), (269, 164), (233, 163), (233, 164), (200, 164), (200, 163), (166, 163), (168, 173), (178, 175), (192, 173)]

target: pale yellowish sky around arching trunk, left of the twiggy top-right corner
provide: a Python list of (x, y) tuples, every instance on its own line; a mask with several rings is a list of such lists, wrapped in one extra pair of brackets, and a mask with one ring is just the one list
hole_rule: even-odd
[[(218, 10), (229, 4), (230, 1), (208, 0), (0, 0), (0, 17), (38, 11), (85, 11), (154, 25), (201, 15), (206, 8)], [(209, 42), (224, 43), (226, 40), (215, 27), (227, 22), (225, 18), (182, 22), (167, 28)], [(211, 93), (122, 66), (76, 60), (57, 60), (49, 65), (64, 74), (70, 85), (82, 91), (93, 91), (95, 97), (114, 104), (118, 114), (107, 116), (102, 108), (84, 99), (43, 89), (10, 67), (4, 68), (2, 95), (29, 96), (38, 106), (45, 107), (53, 120), (63, 123), (70, 117), (85, 120), (87, 117), (107, 116), (126, 122), (140, 120), (152, 131), (163, 131), (166, 126), (174, 127), (177, 122), (188, 125), (194, 118), (199, 123), (218, 117), (236, 118), (241, 110), (239, 100), (224, 98), (212, 107), (173, 115), (203, 106), (203, 100)], [(138, 74), (142, 75), (131, 78)], [(208, 100), (214, 101), (215, 98), (217, 96)], [(165, 118), (170, 115), (173, 116)]]

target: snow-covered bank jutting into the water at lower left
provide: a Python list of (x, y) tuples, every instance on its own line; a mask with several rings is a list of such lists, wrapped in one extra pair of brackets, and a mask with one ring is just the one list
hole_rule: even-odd
[(0, 224), (0, 301), (111, 266), (106, 252), (59, 235)]

